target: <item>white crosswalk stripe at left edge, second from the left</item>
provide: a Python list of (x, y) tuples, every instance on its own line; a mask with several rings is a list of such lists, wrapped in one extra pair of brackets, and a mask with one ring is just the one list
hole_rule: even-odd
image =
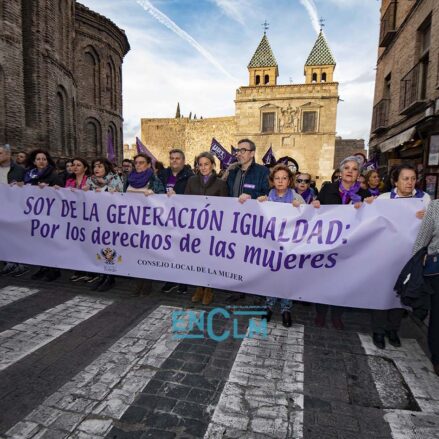
[(113, 303), (76, 296), (0, 333), (0, 371), (35, 352)]

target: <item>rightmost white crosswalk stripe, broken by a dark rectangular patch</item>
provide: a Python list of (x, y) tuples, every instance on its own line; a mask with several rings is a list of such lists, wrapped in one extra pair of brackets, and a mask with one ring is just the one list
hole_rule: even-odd
[[(358, 336), (367, 355), (393, 361), (421, 409), (421, 412), (385, 410), (384, 419), (390, 426), (392, 437), (394, 439), (439, 438), (439, 380), (418, 342), (414, 339), (402, 339), (400, 348), (389, 346), (386, 349), (378, 349), (369, 335), (358, 334)], [(373, 368), (371, 371), (376, 375)], [(374, 379), (375, 382), (379, 381), (378, 376), (374, 376)], [(385, 388), (377, 386), (377, 391), (385, 402)]]

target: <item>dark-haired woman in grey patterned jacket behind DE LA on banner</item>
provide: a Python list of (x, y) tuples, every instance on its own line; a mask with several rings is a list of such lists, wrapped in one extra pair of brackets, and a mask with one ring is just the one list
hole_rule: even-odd
[[(116, 174), (113, 164), (106, 158), (94, 159), (91, 163), (92, 175), (87, 178), (83, 190), (95, 192), (122, 192), (123, 183)], [(92, 284), (92, 291), (108, 291), (116, 283), (114, 276), (101, 274)]]

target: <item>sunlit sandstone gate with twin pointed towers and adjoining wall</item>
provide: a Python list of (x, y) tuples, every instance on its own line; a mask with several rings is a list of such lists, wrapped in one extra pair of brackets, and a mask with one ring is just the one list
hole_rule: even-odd
[(230, 149), (241, 138), (257, 145), (261, 161), (270, 146), (275, 157), (289, 156), (318, 181), (333, 171), (338, 83), (335, 60), (322, 32), (305, 63), (304, 84), (277, 84), (278, 64), (264, 34), (249, 65), (249, 85), (236, 91), (235, 115), (208, 119), (142, 119), (142, 142), (167, 162), (181, 147), (192, 160), (208, 150), (212, 137)]

